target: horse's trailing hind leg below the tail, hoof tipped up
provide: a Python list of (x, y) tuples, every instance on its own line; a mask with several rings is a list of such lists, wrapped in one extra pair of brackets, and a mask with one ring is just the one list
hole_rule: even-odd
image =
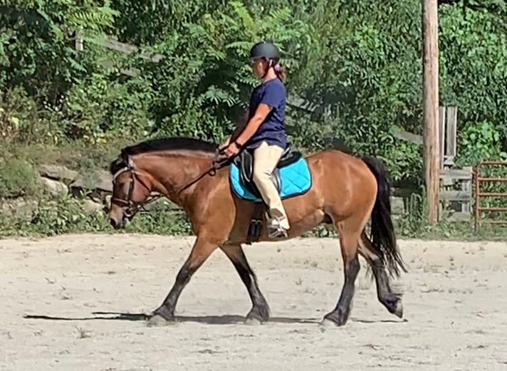
[(390, 280), (387, 276), (384, 263), (379, 254), (380, 251), (375, 249), (371, 241), (363, 232), (361, 234), (361, 241), (359, 253), (370, 264), (377, 283), (377, 298), (390, 313), (397, 315), (399, 318), (403, 317), (403, 304), (400, 293), (394, 293), (390, 286)]

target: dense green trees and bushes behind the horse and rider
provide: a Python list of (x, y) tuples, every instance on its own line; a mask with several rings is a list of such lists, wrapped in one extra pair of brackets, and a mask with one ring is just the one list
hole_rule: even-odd
[[(27, 164), (51, 157), (78, 168), (104, 167), (120, 145), (159, 135), (219, 142), (258, 84), (249, 48), (273, 39), (288, 69), (289, 94), (318, 106), (308, 113), (288, 105), (293, 145), (303, 152), (338, 147), (379, 157), (394, 181), (422, 179), (422, 148), (391, 133), (400, 127), (422, 134), (420, 1), (3, 4), (0, 140), (11, 152), (23, 153), (2, 151), (0, 166), (17, 160), (24, 174)], [(506, 1), (441, 1), (439, 27), (440, 103), (459, 108), (456, 160), (473, 165), (506, 158)], [(110, 51), (100, 46), (105, 36), (162, 58), (154, 62), (140, 53)], [(75, 48), (78, 37), (83, 51)], [(129, 68), (140, 75), (122, 73)], [(323, 106), (329, 115), (323, 115)], [(100, 145), (103, 150), (97, 150)], [(15, 171), (2, 171), (16, 179)], [(36, 190), (9, 182), (0, 184), (1, 194), (14, 194), (21, 185), (26, 187), (21, 193)], [(159, 217), (141, 220), (167, 223)], [(407, 234), (420, 225), (411, 217), (403, 227)], [(65, 219), (54, 228), (70, 230), (73, 223)]]

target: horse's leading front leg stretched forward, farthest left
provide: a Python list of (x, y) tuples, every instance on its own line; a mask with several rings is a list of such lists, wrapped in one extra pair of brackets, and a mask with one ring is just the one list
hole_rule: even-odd
[(164, 299), (164, 303), (159, 308), (155, 309), (148, 321), (148, 325), (164, 325), (168, 321), (174, 320), (174, 309), (183, 288), (187, 286), (192, 275), (199, 269), (200, 266), (206, 261), (211, 253), (218, 247), (218, 244), (202, 237), (197, 237), (194, 247), (190, 252), (187, 261), (184, 262), (182, 268), (176, 276), (176, 281)]

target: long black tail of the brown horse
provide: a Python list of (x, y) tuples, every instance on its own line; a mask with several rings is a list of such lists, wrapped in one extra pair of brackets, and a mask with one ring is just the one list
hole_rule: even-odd
[(380, 161), (368, 157), (363, 157), (362, 160), (375, 175), (378, 188), (372, 211), (370, 242), (390, 275), (399, 276), (399, 268), (402, 268), (404, 272), (407, 272), (407, 269), (404, 267), (392, 224), (390, 182), (387, 179), (385, 167)]

